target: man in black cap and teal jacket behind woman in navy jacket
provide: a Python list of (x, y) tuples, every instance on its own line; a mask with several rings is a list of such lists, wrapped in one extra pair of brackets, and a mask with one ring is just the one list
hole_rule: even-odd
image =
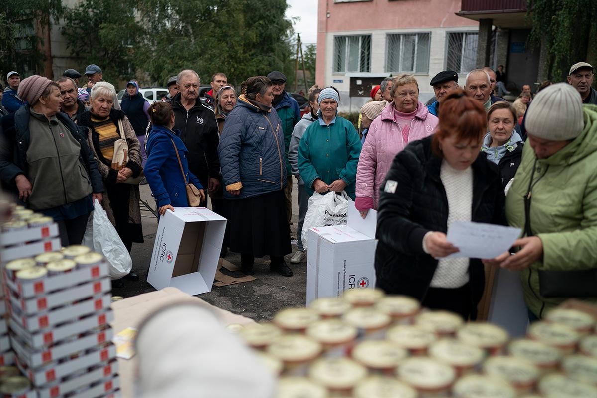
[(297, 100), (284, 91), (286, 87), (286, 76), (279, 70), (274, 70), (267, 74), (267, 78), (272, 81), (273, 87), (273, 101), (272, 107), (278, 113), (278, 117), (282, 122), (282, 131), (284, 131), (284, 148), (286, 153), (286, 188), (284, 190), (286, 202), (286, 215), (288, 216), (288, 224), (293, 216), (293, 177), (290, 172), (290, 162), (288, 161), (288, 148), (290, 147), (290, 138), (293, 135), (294, 125), (300, 121), (300, 108)]

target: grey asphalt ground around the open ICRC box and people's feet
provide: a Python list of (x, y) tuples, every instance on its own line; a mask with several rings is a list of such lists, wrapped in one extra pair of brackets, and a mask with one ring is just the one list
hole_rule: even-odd
[[(296, 238), (297, 224), (297, 186), (293, 178), (293, 225), (290, 226), (291, 236)], [(140, 186), (141, 199), (155, 208), (155, 201), (151, 196), (149, 185)], [(152, 257), (153, 241), (155, 239), (158, 221), (149, 211), (141, 206), (141, 219), (143, 223), (143, 243), (133, 243), (131, 257), (133, 270), (139, 274), (139, 280), (124, 280), (122, 288), (113, 288), (112, 294), (122, 297), (131, 297), (146, 292), (155, 291), (147, 283), (147, 269)], [(293, 252), (296, 250), (296, 241), (293, 240)], [(287, 264), (293, 270), (291, 277), (281, 276), (269, 270), (269, 257), (257, 258), (255, 261), (255, 280), (235, 285), (213, 286), (210, 292), (200, 294), (202, 298), (214, 306), (223, 308), (235, 314), (250, 317), (256, 321), (270, 320), (273, 314), (281, 308), (304, 307), (306, 300), (306, 260), (300, 264), (290, 264), (292, 253), (285, 257)], [(241, 255), (228, 252), (226, 260), (237, 266), (241, 265)], [(228, 271), (223, 273), (230, 276), (241, 277), (241, 271)]]

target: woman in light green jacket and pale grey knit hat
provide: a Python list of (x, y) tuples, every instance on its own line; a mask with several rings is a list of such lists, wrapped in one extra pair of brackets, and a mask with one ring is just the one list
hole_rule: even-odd
[(506, 198), (520, 250), (485, 263), (521, 270), (534, 321), (568, 298), (597, 303), (597, 106), (554, 84), (537, 94), (525, 126), (529, 145)]

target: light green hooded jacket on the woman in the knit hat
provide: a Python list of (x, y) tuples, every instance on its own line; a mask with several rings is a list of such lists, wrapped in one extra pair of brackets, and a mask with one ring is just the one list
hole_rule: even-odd
[[(531, 232), (543, 242), (543, 258), (521, 271), (527, 307), (537, 316), (565, 298), (539, 293), (538, 270), (597, 267), (597, 106), (585, 105), (584, 129), (547, 159), (537, 159), (525, 145), (522, 162), (506, 198), (506, 217), (524, 231), (524, 196), (531, 189)], [(597, 292), (596, 292), (597, 296)], [(584, 299), (597, 303), (597, 297)]]

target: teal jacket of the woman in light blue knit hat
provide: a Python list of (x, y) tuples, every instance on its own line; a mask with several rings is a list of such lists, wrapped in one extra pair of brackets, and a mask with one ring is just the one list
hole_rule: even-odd
[(361, 155), (359, 134), (352, 123), (340, 116), (328, 126), (319, 121), (307, 127), (298, 146), (298, 172), (305, 189), (310, 196), (317, 178), (326, 184), (341, 178), (347, 184), (344, 190), (354, 200), (356, 164)]

